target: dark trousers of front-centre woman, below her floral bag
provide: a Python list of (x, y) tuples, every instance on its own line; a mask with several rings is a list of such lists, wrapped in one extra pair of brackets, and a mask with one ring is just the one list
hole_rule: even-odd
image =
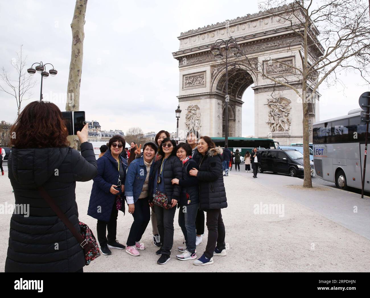
[(164, 209), (154, 205), (155, 215), (157, 215), (157, 225), (159, 237), (161, 237), (162, 255), (170, 255), (172, 245), (174, 245), (174, 217), (176, 206), (171, 209)]

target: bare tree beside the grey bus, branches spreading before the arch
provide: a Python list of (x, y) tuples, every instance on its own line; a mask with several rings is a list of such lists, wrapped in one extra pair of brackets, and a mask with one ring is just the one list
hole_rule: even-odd
[[(316, 103), (320, 84), (336, 83), (339, 71), (353, 70), (364, 79), (364, 84), (370, 84), (369, 4), (367, 0), (266, 0), (260, 1), (259, 6), (266, 14), (276, 16), (276, 26), (292, 34), (294, 42), (286, 51), (297, 54), (298, 61), (286, 63), (266, 54), (267, 61), (256, 62), (247, 57), (248, 68), (271, 81), (272, 95), (284, 86), (294, 90), (297, 101), (302, 103), (303, 187), (312, 187), (309, 105)], [(266, 71), (266, 65), (275, 62), (289, 73), (273, 75)]]

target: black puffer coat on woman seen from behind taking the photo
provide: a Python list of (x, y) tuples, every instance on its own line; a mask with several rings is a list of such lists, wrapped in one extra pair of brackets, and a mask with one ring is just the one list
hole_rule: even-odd
[(81, 154), (70, 147), (14, 148), (8, 167), (15, 202), (29, 204), (29, 216), (11, 216), (5, 272), (75, 272), (84, 267), (80, 244), (36, 188), (43, 185), (79, 231), (75, 187), (76, 181), (91, 180), (98, 172), (92, 144), (82, 143)]

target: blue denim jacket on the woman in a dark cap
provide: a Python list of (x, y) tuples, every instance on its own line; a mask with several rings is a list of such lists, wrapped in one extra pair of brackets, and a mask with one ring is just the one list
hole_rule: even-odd
[[(150, 166), (149, 175), (152, 174), (154, 167), (154, 161)], [(126, 181), (125, 181), (125, 196), (127, 197), (134, 197), (134, 203), (138, 200), (142, 187), (145, 182), (145, 178), (147, 177), (147, 166), (144, 164), (144, 156), (137, 158), (128, 166), (127, 174), (126, 174)], [(151, 190), (151, 179), (149, 178), (149, 188), (148, 188), (148, 197), (151, 197), (152, 194), (150, 193)], [(127, 202), (129, 204), (129, 202)]]

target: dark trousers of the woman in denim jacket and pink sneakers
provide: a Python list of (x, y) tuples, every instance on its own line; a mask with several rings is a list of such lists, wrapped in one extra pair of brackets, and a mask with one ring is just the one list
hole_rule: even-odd
[(135, 242), (140, 241), (150, 220), (149, 198), (138, 199), (134, 205), (135, 210), (134, 213), (132, 213), (134, 222), (132, 222), (128, 234), (127, 246), (134, 246)]

